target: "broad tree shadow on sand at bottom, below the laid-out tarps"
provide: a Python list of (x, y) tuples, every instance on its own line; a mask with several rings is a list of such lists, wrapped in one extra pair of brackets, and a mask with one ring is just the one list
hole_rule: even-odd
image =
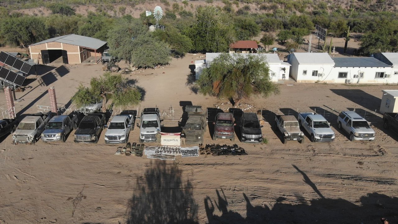
[(175, 164), (151, 162), (144, 174), (137, 177), (127, 208), (127, 224), (197, 224), (193, 186), (181, 174)]

